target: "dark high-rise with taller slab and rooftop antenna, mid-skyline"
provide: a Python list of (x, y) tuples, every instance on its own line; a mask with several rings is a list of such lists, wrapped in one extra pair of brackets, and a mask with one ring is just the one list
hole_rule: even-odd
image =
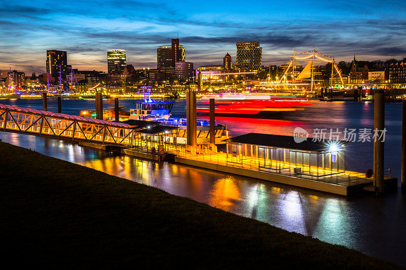
[(179, 38), (172, 38), (171, 46), (156, 49), (157, 68), (175, 67), (176, 62), (185, 62), (185, 47), (179, 45)]

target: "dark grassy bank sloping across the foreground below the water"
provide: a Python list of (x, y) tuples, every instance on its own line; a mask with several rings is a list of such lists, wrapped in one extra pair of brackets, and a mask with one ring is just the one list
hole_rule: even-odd
[(398, 266), (0, 142), (2, 263), (65, 267)]

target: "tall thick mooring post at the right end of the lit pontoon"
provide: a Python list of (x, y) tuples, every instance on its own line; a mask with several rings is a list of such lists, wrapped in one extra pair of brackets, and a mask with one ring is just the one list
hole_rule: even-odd
[(384, 191), (385, 90), (376, 89), (374, 97), (374, 186), (378, 193)]

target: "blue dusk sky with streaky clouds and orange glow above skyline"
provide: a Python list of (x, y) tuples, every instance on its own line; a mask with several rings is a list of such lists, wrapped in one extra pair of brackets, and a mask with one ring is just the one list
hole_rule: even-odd
[(406, 57), (405, 1), (5, 1), (0, 3), (0, 69), (45, 72), (46, 50), (68, 64), (107, 70), (106, 50), (156, 67), (156, 47), (179, 33), (186, 61), (221, 64), (235, 42), (258, 41), (262, 64), (315, 45), (337, 61)]

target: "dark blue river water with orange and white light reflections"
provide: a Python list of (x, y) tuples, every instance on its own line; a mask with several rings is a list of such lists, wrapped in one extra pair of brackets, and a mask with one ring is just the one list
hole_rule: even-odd
[[(0, 103), (42, 108), (40, 99), (0, 100)], [(281, 112), (275, 119), (217, 117), (216, 121), (227, 124), (231, 136), (248, 132), (292, 135), (295, 127), (306, 129), (310, 135), (316, 128), (373, 128), (374, 103), (312, 103), (313, 106), (304, 110)], [(134, 107), (133, 100), (120, 99), (120, 105)], [(104, 107), (108, 106), (105, 101)], [(184, 100), (175, 101), (173, 114), (184, 117), (184, 107)], [(81, 109), (93, 108), (94, 100), (62, 100), (64, 113), (78, 115)], [(48, 100), (48, 110), (57, 111), (56, 100)], [(391, 167), (392, 175), (399, 178), (401, 103), (385, 104), (385, 127), (385, 167)], [(343, 198), (215, 171), (114, 156), (62, 140), (4, 132), (0, 132), (0, 138), (47, 156), (155, 186), (290, 232), (345, 245), (406, 266), (406, 195), (401, 194), (400, 188), (382, 197)], [(346, 162), (349, 170), (372, 168), (373, 144), (350, 143)]]

